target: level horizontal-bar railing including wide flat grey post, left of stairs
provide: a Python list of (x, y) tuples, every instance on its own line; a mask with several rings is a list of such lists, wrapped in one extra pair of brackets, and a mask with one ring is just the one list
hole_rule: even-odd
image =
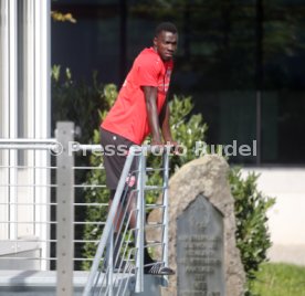
[(57, 295), (65, 296), (73, 295), (73, 272), (92, 264), (93, 256), (82, 250), (98, 243), (98, 237), (84, 237), (84, 228), (105, 224), (80, 213), (108, 207), (85, 201), (87, 189), (106, 190), (104, 183), (86, 181), (88, 171), (104, 168), (83, 161), (73, 136), (73, 124), (59, 123), (56, 138), (0, 139), (0, 268), (56, 269)]

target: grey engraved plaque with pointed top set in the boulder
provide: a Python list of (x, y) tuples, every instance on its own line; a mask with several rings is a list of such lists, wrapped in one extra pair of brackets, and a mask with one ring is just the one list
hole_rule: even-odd
[(198, 195), (177, 219), (178, 296), (224, 296), (223, 218)]

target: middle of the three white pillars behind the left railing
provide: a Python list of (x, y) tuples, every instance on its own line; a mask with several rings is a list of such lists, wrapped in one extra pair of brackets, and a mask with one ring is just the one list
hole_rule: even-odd
[[(22, 0), (18, 2), (18, 137), (34, 138), (34, 1)], [(34, 183), (34, 151), (23, 150), (18, 157), (18, 163), (28, 167), (19, 170), (19, 183)], [(35, 235), (34, 198), (34, 188), (18, 189), (19, 202), (23, 203), (18, 208), (18, 221), (21, 222), (18, 224), (19, 237)], [(32, 221), (32, 223), (22, 223), (23, 221)]]

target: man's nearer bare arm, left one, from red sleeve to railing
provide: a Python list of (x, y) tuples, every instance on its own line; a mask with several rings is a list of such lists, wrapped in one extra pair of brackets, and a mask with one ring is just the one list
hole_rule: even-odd
[(143, 86), (148, 124), (151, 131), (151, 145), (162, 145), (160, 135), (160, 124), (157, 108), (158, 89), (155, 86)]

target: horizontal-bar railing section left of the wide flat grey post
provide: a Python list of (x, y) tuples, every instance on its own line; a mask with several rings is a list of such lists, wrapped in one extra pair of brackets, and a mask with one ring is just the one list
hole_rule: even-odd
[[(0, 266), (50, 268), (51, 190), (48, 149), (55, 139), (0, 139)], [(19, 163), (27, 157), (27, 165)]]

